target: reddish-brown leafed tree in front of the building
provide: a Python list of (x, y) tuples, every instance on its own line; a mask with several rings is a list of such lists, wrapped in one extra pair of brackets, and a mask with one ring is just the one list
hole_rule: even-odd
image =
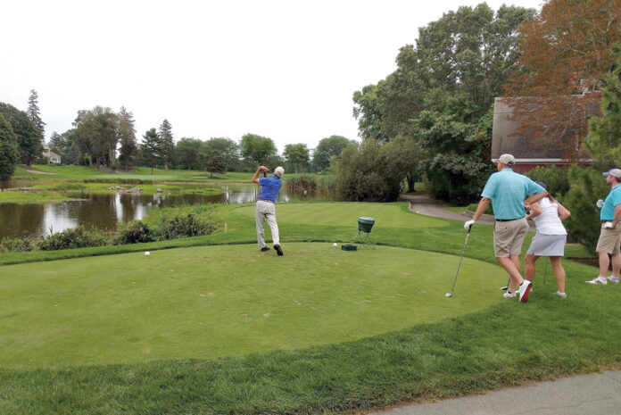
[[(619, 33), (619, 0), (544, 4), (541, 14), (520, 28), (519, 71), (506, 85), (507, 96), (529, 97), (507, 101), (521, 126), (518, 132), (538, 137), (541, 147), (554, 145), (568, 132), (582, 142), (616, 60), (611, 46)], [(575, 148), (566, 146), (567, 158), (582, 156)]]

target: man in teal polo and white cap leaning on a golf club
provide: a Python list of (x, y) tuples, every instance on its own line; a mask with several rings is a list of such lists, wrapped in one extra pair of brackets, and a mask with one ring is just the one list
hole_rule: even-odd
[[(531, 283), (520, 274), (519, 261), (529, 228), (525, 205), (540, 201), (547, 192), (530, 178), (514, 172), (511, 168), (515, 162), (513, 155), (501, 155), (497, 163), (498, 172), (487, 180), (475, 216), (465, 223), (464, 228), (468, 230), (472, 227), (492, 203), (496, 220), (493, 227), (494, 253), (510, 277), (504, 297), (512, 298), (519, 293), (519, 301), (526, 303)], [(519, 289), (516, 292), (517, 286)]]

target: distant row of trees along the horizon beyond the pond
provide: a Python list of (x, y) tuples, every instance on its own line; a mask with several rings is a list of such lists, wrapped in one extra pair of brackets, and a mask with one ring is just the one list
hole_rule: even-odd
[[(11, 178), (18, 163), (46, 162), (42, 159), (45, 123), (40, 119), (37, 93), (31, 91), (28, 112), (11, 104), (0, 103), (0, 180)], [(152, 169), (187, 169), (224, 173), (228, 170), (251, 171), (259, 164), (285, 166), (290, 172), (327, 170), (351, 140), (331, 136), (319, 141), (316, 148), (306, 144), (285, 145), (278, 154), (269, 137), (246, 134), (236, 142), (228, 137), (201, 140), (182, 137), (177, 142), (172, 125), (163, 120), (158, 129), (145, 131), (137, 140), (132, 112), (121, 107), (95, 106), (80, 110), (72, 128), (59, 134), (53, 132), (50, 150), (62, 157), (64, 164), (93, 165), (112, 170), (142, 166)]]

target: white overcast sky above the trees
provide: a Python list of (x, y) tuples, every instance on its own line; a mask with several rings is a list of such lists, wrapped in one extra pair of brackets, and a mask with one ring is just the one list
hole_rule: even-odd
[[(396, 69), (418, 28), (471, 0), (4, 1), (0, 102), (37, 90), (46, 137), (95, 105), (181, 137), (310, 148), (357, 138), (352, 95)], [(541, 8), (541, 0), (488, 1)]]

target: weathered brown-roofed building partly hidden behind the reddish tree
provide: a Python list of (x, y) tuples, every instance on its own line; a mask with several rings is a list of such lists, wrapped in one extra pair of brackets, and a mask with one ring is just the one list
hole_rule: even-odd
[[(581, 95), (572, 95), (580, 97)], [(528, 98), (517, 98), (528, 99)], [(537, 166), (563, 166), (571, 161), (564, 158), (567, 150), (577, 151), (581, 143), (573, 129), (567, 129), (561, 137), (551, 138), (553, 145), (542, 148), (537, 145), (533, 135), (517, 134), (518, 125), (510, 120), (513, 110), (507, 98), (496, 98), (493, 104), (493, 131), (492, 131), (492, 162), (498, 162), (501, 154), (513, 154), (516, 158), (514, 170), (528, 171)], [(589, 161), (586, 161), (589, 164)]]

